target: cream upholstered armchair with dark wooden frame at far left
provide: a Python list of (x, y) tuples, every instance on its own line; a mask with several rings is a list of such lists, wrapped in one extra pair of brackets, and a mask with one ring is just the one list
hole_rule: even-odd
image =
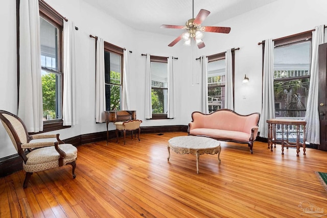
[[(0, 119), (18, 153), (22, 158), (22, 166), (26, 172), (23, 187), (26, 188), (30, 177), (35, 172), (45, 171), (55, 167), (72, 165), (73, 178), (77, 149), (72, 144), (65, 144), (59, 139), (59, 134), (29, 135), (22, 120), (7, 111), (0, 110)], [(56, 138), (53, 141), (43, 141), (44, 138)], [(32, 139), (43, 139), (32, 141)], [(55, 141), (57, 140), (57, 141)]]

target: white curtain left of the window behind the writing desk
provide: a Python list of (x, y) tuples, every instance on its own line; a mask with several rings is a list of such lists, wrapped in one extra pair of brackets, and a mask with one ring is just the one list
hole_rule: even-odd
[(103, 123), (106, 110), (106, 94), (104, 84), (104, 42), (98, 37), (96, 47), (96, 122)]

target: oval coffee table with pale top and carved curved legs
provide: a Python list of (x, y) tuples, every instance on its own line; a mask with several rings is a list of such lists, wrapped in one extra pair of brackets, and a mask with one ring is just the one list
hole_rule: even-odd
[(177, 154), (193, 154), (196, 156), (196, 173), (199, 173), (199, 156), (201, 154), (218, 154), (220, 162), (220, 142), (203, 136), (177, 136), (168, 140), (168, 161), (170, 158), (170, 149)]

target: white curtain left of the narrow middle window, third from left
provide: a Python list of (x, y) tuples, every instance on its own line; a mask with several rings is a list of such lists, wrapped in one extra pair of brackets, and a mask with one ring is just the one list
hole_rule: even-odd
[(151, 102), (151, 61), (150, 54), (147, 54), (145, 69), (145, 118), (152, 118), (152, 102)]

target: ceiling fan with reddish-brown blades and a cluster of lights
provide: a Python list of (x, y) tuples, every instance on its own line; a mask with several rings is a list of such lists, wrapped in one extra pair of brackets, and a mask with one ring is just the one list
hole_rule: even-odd
[(203, 20), (210, 14), (210, 11), (201, 9), (198, 15), (194, 18), (194, 0), (193, 0), (193, 18), (186, 21), (185, 26), (176, 25), (161, 25), (160, 28), (172, 28), (172, 29), (186, 29), (186, 32), (179, 35), (168, 46), (174, 46), (181, 39), (184, 39), (185, 45), (190, 45), (191, 40), (194, 39), (199, 49), (202, 49), (205, 44), (202, 41), (203, 32), (212, 33), (229, 33), (230, 27), (201, 27)]

